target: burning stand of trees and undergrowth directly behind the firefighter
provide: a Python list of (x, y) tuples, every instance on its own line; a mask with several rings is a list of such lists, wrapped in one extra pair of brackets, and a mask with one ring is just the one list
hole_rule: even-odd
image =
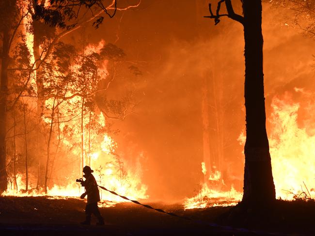
[[(48, 36), (39, 40), (37, 31), (30, 30), (34, 23), (31, 16), (24, 14), (28, 16), (13, 53), (16, 63), (23, 61), (19, 66), (26, 68), (24, 74), (10, 74), (16, 81), (10, 86), (21, 92), (17, 97), (12, 95), (9, 181), (3, 194), (79, 196), (83, 189), (75, 180), (82, 177), (83, 166), (89, 165), (100, 186), (132, 199), (147, 198), (142, 183), (143, 155), (127, 155), (114, 141), (119, 131), (112, 128), (114, 120), (123, 121), (133, 113), (135, 84), (122, 81), (122, 74), (130, 79), (141, 74), (139, 70), (133, 73), (138, 68), (131, 70), (126, 65), (123, 49), (104, 40), (89, 44), (84, 32), (79, 44), (58, 40), (49, 44)], [(58, 37), (60, 32), (55, 33), (50, 36)], [(36, 63), (43, 57), (39, 67)], [(128, 88), (124, 95), (108, 94), (115, 80)], [(101, 198), (125, 201), (104, 191)]]

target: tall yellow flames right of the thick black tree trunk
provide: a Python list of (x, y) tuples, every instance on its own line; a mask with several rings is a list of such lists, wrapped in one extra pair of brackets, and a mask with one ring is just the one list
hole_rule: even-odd
[(315, 135), (299, 127), (299, 103), (274, 98), (271, 106), (269, 145), (276, 196), (293, 200), (305, 192), (314, 199)]

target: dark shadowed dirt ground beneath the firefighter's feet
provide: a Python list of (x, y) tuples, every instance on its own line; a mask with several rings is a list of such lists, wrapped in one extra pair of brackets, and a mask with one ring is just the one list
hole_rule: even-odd
[[(315, 235), (315, 216), (306, 212), (315, 212), (314, 204), (312, 205), (314, 208), (308, 207), (306, 211), (302, 210), (301, 212), (292, 212), (293, 208), (301, 209), (301, 206), (297, 204), (291, 208), (284, 204), (279, 207), (279, 212), (282, 212), (280, 216), (282, 221), (275, 222), (273, 225), (261, 222), (254, 227), (246, 225), (245, 227), (240, 227), (240, 225), (224, 226), (225, 223), (218, 219), (224, 214), (227, 215), (231, 207), (184, 210), (180, 204), (166, 205), (158, 202), (146, 202), (144, 204), (189, 217), (193, 221), (169, 216), (133, 203), (120, 203), (115, 207), (100, 209), (105, 219), (104, 226), (96, 226), (95, 218), (92, 218), (92, 225), (83, 226), (79, 222), (84, 220), (85, 202), (79, 198), (51, 199), (45, 196), (5, 196), (0, 197), (0, 235)], [(303, 204), (305, 205), (305, 203)], [(308, 214), (307, 218), (305, 218), (305, 214)], [(289, 220), (286, 220), (286, 217)], [(305, 221), (304, 218), (310, 219)], [(292, 225), (291, 221), (297, 222), (297, 219), (300, 219), (300, 222), (297, 225)]]

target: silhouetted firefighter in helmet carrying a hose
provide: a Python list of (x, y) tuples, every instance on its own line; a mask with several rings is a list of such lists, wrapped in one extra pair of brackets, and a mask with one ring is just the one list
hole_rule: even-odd
[(91, 224), (91, 215), (94, 214), (98, 219), (96, 225), (104, 225), (104, 219), (101, 216), (101, 213), (98, 210), (97, 202), (100, 201), (99, 191), (97, 187), (96, 180), (92, 175), (94, 171), (91, 170), (90, 166), (84, 166), (83, 168), (83, 177), (85, 181), (81, 182), (81, 185), (84, 186), (85, 192), (80, 196), (83, 199), (86, 195), (88, 195), (87, 204), (85, 207), (85, 221), (81, 222), (81, 224), (89, 225)]

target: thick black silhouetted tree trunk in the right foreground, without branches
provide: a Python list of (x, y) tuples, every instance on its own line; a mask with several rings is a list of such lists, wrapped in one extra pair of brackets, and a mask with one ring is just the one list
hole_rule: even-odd
[(261, 0), (244, 0), (246, 143), (245, 204), (262, 206), (275, 200), (266, 113), (263, 74)]

